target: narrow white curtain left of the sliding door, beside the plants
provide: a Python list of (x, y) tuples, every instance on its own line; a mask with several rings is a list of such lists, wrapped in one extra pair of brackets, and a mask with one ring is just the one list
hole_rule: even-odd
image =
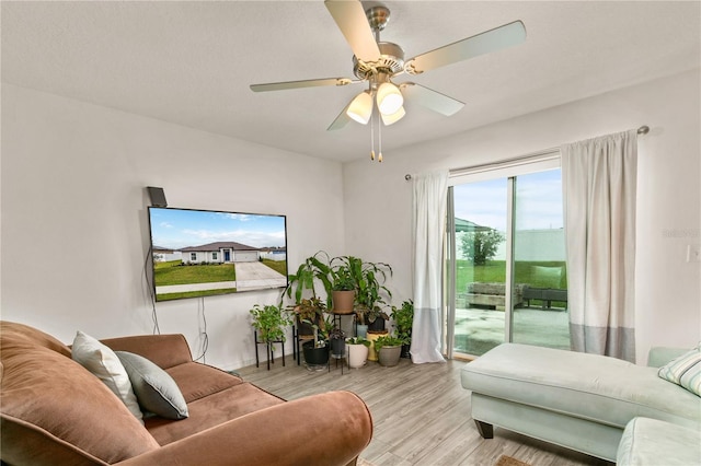
[(414, 177), (414, 363), (445, 362), (441, 345), (443, 242), (448, 172)]

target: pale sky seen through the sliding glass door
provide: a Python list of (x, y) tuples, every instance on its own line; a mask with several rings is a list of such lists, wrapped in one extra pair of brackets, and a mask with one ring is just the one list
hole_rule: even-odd
[[(453, 198), (457, 218), (506, 231), (506, 178), (457, 185)], [(560, 170), (519, 175), (516, 178), (516, 230), (562, 226)]]

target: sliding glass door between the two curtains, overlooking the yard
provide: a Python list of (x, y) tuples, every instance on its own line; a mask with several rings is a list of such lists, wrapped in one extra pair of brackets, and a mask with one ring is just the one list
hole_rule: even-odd
[(504, 341), (570, 348), (560, 170), (516, 172), (450, 188), (450, 354)]

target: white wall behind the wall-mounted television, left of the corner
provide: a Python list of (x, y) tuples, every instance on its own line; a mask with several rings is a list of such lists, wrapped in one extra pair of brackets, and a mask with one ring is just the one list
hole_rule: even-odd
[[(77, 329), (97, 338), (150, 333), (146, 186), (163, 187), (172, 207), (286, 214), (294, 270), (320, 248), (343, 252), (342, 185), (336, 162), (5, 84), (1, 316), (66, 342)], [(184, 334), (195, 356), (204, 314), (207, 362), (233, 369), (254, 361), (249, 310), (278, 296), (156, 308), (161, 331)]]

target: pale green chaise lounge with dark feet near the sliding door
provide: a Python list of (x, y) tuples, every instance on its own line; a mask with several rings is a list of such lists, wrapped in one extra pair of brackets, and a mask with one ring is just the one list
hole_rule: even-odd
[[(657, 375), (657, 366), (686, 351), (653, 349), (648, 363), (654, 366), (642, 366), (504, 343), (466, 364), (461, 382), (472, 392), (472, 418), (484, 439), (491, 439), (497, 426), (614, 462), (623, 430), (635, 418), (701, 435), (701, 398)], [(701, 448), (689, 447), (697, 448), (701, 459)]]

